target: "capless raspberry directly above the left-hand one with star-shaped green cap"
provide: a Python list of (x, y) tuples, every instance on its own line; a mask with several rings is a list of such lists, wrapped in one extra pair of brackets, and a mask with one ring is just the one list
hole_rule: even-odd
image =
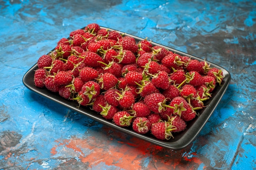
[(84, 67), (79, 73), (79, 77), (83, 82), (89, 82), (99, 76), (98, 71), (91, 67)]

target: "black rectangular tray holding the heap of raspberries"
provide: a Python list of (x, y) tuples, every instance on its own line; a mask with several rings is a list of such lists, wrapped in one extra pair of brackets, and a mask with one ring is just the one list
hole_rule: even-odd
[[(105, 27), (101, 27), (101, 28), (105, 28)], [(82, 29), (84, 29), (84, 28), (82, 28)], [(107, 29), (107, 28), (105, 28), (105, 29)], [(109, 29), (109, 30), (114, 30), (114, 29)], [(115, 30), (115, 31), (117, 31), (117, 30)], [(120, 32), (120, 31), (118, 31), (118, 32), (121, 34), (124, 34), (123, 32)], [(144, 38), (139, 38), (134, 35), (127, 34), (127, 33), (125, 33), (125, 34), (135, 38), (136, 41), (144, 40)], [(157, 44), (155, 42), (152, 42), (152, 45), (153, 46), (155, 46), (155, 45), (162, 46), (162, 47), (168, 49), (169, 51), (173, 51), (177, 54), (180, 54), (183, 56), (188, 56), (188, 57), (191, 57), (192, 59), (196, 59), (199, 61), (204, 61), (201, 58), (195, 57), (193, 55), (189, 55), (187, 53), (172, 49), (167, 46), (163, 46), (161, 44)], [(40, 56), (38, 56), (38, 58), (39, 57)], [(188, 146), (195, 139), (195, 137), (199, 134), (199, 132), (202, 130), (204, 125), (207, 123), (209, 117), (212, 115), (213, 111), (215, 110), (216, 106), (220, 102), (225, 91), (227, 90), (227, 87), (231, 80), (230, 73), (225, 68), (222, 68), (222, 67), (220, 67), (216, 64), (213, 64), (211, 62), (208, 62), (208, 61), (207, 61), (207, 63), (211, 64), (211, 67), (216, 67), (218, 69), (222, 69), (222, 72), (225, 75), (225, 78), (223, 79), (222, 84), (216, 86), (216, 88), (214, 89), (214, 91), (212, 93), (212, 97), (209, 100), (207, 100), (207, 102), (205, 103), (205, 105), (208, 105), (208, 106), (203, 108), (202, 110), (198, 111), (199, 116), (196, 116), (192, 121), (187, 122), (186, 130), (179, 132), (179, 133), (174, 133), (173, 134), (174, 139), (171, 138), (166, 141), (158, 140), (155, 137), (153, 137), (153, 135), (151, 135), (150, 133), (148, 133), (146, 135), (142, 135), (142, 134), (138, 134), (137, 132), (134, 132), (132, 130), (132, 128), (119, 127), (119, 126), (113, 124), (112, 121), (108, 121), (108, 120), (104, 119), (99, 113), (94, 112), (90, 108), (87, 108), (84, 106), (78, 107), (78, 103), (76, 101), (64, 99), (63, 97), (58, 95), (58, 93), (52, 93), (51, 91), (47, 90), (46, 88), (37, 88), (34, 85), (34, 71), (38, 68), (37, 64), (32, 66), (29, 69), (29, 71), (27, 71), (27, 73), (24, 75), (22, 81), (23, 81), (23, 84), (27, 88), (29, 88), (31, 91), (33, 91), (33, 92), (37, 93), (38, 95), (43, 96), (47, 99), (50, 99), (53, 102), (61, 104), (65, 107), (73, 110), (74, 112), (81, 113), (81, 114), (83, 114), (87, 117), (90, 117), (91, 119), (98, 121), (104, 125), (110, 126), (111, 128), (115, 128), (117, 130), (120, 130), (121, 132), (132, 135), (139, 139), (143, 139), (152, 144), (156, 144), (158, 146), (162, 146), (162, 147), (169, 148), (172, 150), (180, 150), (180, 149)]]

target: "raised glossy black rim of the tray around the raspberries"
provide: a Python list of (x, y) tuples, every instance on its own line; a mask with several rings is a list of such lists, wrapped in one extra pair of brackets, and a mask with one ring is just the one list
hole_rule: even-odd
[[(84, 29), (85, 27), (81, 28), (81, 29)], [(110, 28), (106, 28), (106, 27), (103, 27), (101, 26), (102, 29), (109, 29), (110, 31), (117, 31), (115, 29), (110, 29)], [(128, 33), (124, 33), (124, 32), (121, 32), (121, 31), (117, 31), (121, 34), (125, 34), (125, 35), (128, 35), (128, 36), (131, 36), (133, 38), (135, 38), (136, 40), (144, 40), (145, 38), (140, 38), (140, 37), (137, 37), (135, 35), (131, 35), (131, 34), (128, 34)], [(200, 57), (196, 57), (196, 56), (193, 56), (193, 55), (190, 55), (188, 53), (184, 53), (182, 51), (179, 51), (179, 50), (176, 50), (176, 49), (173, 49), (171, 47), (168, 47), (168, 46), (164, 46), (162, 44), (158, 44), (156, 42), (151, 42), (153, 46), (155, 45), (158, 45), (158, 46), (162, 46), (170, 51), (174, 51), (175, 53), (178, 53), (180, 55), (184, 55), (184, 56), (188, 56), (188, 57), (191, 57), (193, 59), (197, 59), (197, 60), (200, 60), (200, 61), (204, 61), (202, 58)], [(54, 51), (54, 49), (52, 50)], [(219, 102), (221, 101), (222, 99), (222, 96), (225, 94), (225, 91), (227, 90), (228, 88), (228, 85), (229, 85), (229, 82), (231, 80), (231, 75), (229, 73), (229, 71), (227, 71), (225, 68), (217, 65), (217, 64), (214, 64), (212, 62), (209, 62), (209, 61), (206, 61), (208, 64), (211, 64), (211, 66), (215, 66), (219, 69), (222, 69), (222, 72), (223, 74), (225, 75), (225, 78), (223, 79), (223, 82), (221, 85), (218, 85), (218, 88), (219, 88), (219, 91), (217, 92), (217, 95), (211, 97), (211, 102), (209, 103), (209, 105), (204, 109), (204, 111), (202, 111), (202, 113), (204, 114), (200, 114), (199, 116), (197, 116), (196, 120), (194, 120), (195, 122), (193, 123), (193, 125), (191, 127), (189, 127), (189, 129), (186, 130), (186, 132), (184, 133), (184, 135), (178, 139), (177, 141), (173, 141), (172, 142), (172, 139), (169, 139), (168, 141), (161, 141), (161, 140), (158, 140), (158, 139), (154, 139), (152, 137), (147, 137), (143, 134), (139, 134), (133, 130), (129, 130), (127, 128), (122, 128), (122, 127), (119, 127), (115, 124), (113, 124), (112, 122), (104, 119), (103, 117), (95, 117), (94, 115), (92, 115), (92, 110), (90, 109), (87, 109), (85, 111), (85, 108), (83, 108), (81, 110), (81, 108), (79, 107), (75, 107), (75, 106), (72, 106), (70, 104), (68, 104), (67, 102), (70, 102), (69, 100), (67, 99), (60, 99), (61, 97), (53, 97), (52, 95), (48, 95), (46, 93), (43, 93), (41, 92), (42, 90), (40, 88), (37, 88), (36, 86), (34, 86), (34, 84), (31, 84), (29, 82), (29, 79), (33, 78), (34, 77), (29, 77), (29, 75), (31, 73), (34, 73), (34, 70), (36, 70), (37, 68), (37, 63), (34, 64), (34, 66), (32, 66), (26, 73), (25, 75), (22, 77), (22, 82), (23, 84), (29, 89), (31, 90), (32, 92), (46, 98), (46, 99), (49, 99), (53, 102), (56, 102), (58, 104), (61, 104), (62, 106), (65, 106), (67, 108), (69, 108), (70, 110), (73, 110), (74, 112), (77, 112), (77, 113), (80, 113), (80, 114), (83, 114), (91, 119), (93, 119), (94, 121), (98, 121), (99, 123), (101, 124), (104, 124), (106, 126), (110, 126), (111, 128), (114, 128), (116, 130), (119, 130), (121, 132), (124, 132), (128, 135), (131, 135), (133, 137), (137, 137), (139, 139), (142, 139), (144, 141), (147, 141), (147, 142), (150, 142), (152, 144), (155, 144), (155, 145), (158, 145), (158, 146), (162, 146), (164, 148), (168, 148), (168, 149), (172, 149), (172, 150), (180, 150), (182, 148), (185, 148), (186, 146), (188, 146), (189, 144), (191, 144), (192, 141), (194, 141), (194, 139), (198, 136), (198, 134), (201, 132), (202, 128), (204, 127), (204, 125), (208, 122), (209, 118), (211, 117), (211, 115), (213, 114), (214, 110), (216, 109), (216, 107), (218, 106)], [(43, 89), (43, 90), (46, 90), (47, 89)], [(215, 89), (216, 90), (216, 89)], [(53, 93), (54, 94), (54, 93)], [(66, 101), (66, 102), (65, 102)], [(213, 103), (214, 102), (214, 103)], [(213, 104), (212, 104), (213, 103)], [(207, 113), (205, 113), (207, 112)], [(96, 112), (94, 112), (96, 114)], [(203, 121), (202, 121), (202, 120)], [(198, 122), (196, 124), (196, 122)], [(197, 129), (197, 130), (195, 130)], [(193, 132), (193, 133), (189, 133), (189, 132)], [(192, 135), (193, 134), (193, 135)]]

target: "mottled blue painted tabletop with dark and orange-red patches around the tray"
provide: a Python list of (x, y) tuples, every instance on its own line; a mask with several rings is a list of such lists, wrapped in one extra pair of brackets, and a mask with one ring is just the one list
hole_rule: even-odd
[[(0, 2), (0, 170), (256, 169), (256, 2)], [(23, 75), (71, 31), (96, 22), (226, 68), (227, 92), (200, 135), (166, 150), (29, 91)]]

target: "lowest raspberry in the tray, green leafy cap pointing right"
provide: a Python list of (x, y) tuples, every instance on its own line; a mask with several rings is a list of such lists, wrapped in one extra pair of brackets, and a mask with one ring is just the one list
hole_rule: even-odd
[(173, 138), (172, 131), (176, 128), (166, 121), (157, 122), (152, 125), (151, 133), (159, 140), (169, 140)]

